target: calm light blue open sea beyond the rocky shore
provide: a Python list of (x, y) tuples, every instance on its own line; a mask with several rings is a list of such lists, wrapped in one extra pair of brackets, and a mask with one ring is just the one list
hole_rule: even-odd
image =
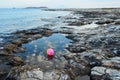
[(0, 33), (11, 33), (16, 30), (24, 30), (40, 27), (53, 22), (58, 16), (69, 14), (66, 11), (43, 11), (41, 9), (0, 9)]

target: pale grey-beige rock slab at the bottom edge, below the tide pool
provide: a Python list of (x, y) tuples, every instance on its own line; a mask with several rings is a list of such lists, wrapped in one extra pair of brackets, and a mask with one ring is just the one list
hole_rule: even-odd
[(71, 79), (64, 72), (60, 72), (57, 70), (43, 72), (41, 71), (40, 68), (37, 68), (21, 73), (20, 80), (71, 80)]

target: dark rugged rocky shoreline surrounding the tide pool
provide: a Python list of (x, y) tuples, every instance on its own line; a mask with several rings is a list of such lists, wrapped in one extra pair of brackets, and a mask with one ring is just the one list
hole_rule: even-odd
[[(120, 10), (73, 10), (70, 16), (58, 16), (70, 27), (59, 29), (35, 28), (1, 36), (0, 80), (120, 80)], [(75, 29), (92, 22), (98, 27)], [(73, 26), (73, 27), (71, 27)], [(40, 65), (26, 64), (16, 56), (25, 52), (22, 44), (51, 36), (66, 34), (72, 40), (63, 55), (66, 64), (62, 69), (44, 71)]]

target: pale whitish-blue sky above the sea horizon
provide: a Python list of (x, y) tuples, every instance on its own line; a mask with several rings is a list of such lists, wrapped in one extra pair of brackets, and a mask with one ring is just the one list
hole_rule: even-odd
[(49, 8), (120, 7), (120, 0), (0, 0), (0, 8), (46, 6)]

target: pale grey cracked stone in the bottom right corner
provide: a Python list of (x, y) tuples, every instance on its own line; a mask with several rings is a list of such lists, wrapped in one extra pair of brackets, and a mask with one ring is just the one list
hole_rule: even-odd
[(91, 69), (91, 79), (93, 80), (119, 80), (120, 71), (112, 68), (94, 67)]

